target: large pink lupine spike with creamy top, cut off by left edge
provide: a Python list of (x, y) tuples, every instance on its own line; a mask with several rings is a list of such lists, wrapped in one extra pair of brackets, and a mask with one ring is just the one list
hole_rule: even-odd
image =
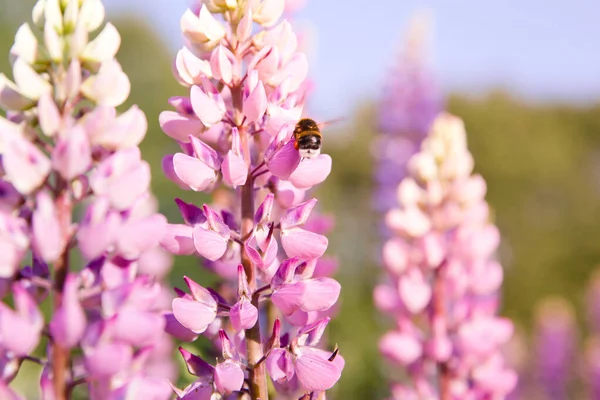
[(171, 393), (167, 221), (138, 148), (146, 117), (115, 109), (130, 84), (114, 58), (119, 33), (103, 21), (100, 0), (39, 0), (10, 51), (14, 82), (0, 74), (0, 293), (14, 304), (0, 303), (2, 398), (19, 398), (8, 383), (23, 360), (43, 366), (45, 399), (76, 385), (90, 399)]

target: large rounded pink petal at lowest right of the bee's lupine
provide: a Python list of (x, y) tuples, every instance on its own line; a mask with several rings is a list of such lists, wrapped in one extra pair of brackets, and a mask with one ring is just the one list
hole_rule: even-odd
[(310, 347), (300, 348), (296, 351), (296, 355), (294, 362), (296, 376), (306, 391), (331, 389), (342, 375), (338, 365)]

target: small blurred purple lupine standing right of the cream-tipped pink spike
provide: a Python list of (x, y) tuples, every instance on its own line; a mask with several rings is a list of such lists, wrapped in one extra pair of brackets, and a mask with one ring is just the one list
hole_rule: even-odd
[(536, 310), (534, 332), (535, 379), (548, 399), (568, 399), (568, 385), (576, 365), (577, 329), (569, 303), (546, 299)]

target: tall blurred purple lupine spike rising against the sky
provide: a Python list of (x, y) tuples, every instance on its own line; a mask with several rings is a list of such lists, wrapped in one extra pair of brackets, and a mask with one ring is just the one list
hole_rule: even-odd
[(380, 135), (373, 143), (378, 185), (373, 203), (379, 212), (398, 206), (395, 188), (406, 176), (406, 163), (443, 110), (442, 94), (425, 60), (427, 27), (425, 15), (414, 17), (398, 65), (387, 74), (378, 107)]

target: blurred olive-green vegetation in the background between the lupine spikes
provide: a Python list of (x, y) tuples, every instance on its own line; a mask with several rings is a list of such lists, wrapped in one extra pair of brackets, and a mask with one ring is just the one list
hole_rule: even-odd
[[(7, 54), (14, 33), (30, 19), (32, 3), (0, 0), (0, 71), (9, 71)], [(184, 90), (171, 74), (180, 44), (162, 36), (139, 14), (118, 11), (108, 19), (121, 33), (117, 57), (132, 83), (128, 103), (121, 108), (138, 104), (146, 113), (149, 131), (142, 156), (152, 166), (152, 187), (161, 211), (170, 221), (179, 221), (174, 197), (210, 201), (203, 194), (182, 192), (161, 170), (162, 156), (176, 150), (174, 141), (161, 132), (158, 115), (169, 97)], [(390, 40), (400, 38), (405, 28), (398, 25), (397, 36)], [(389, 55), (385, 67), (395, 62)], [(600, 76), (600, 65), (596, 67)], [(337, 278), (343, 288), (340, 314), (328, 336), (346, 359), (342, 379), (332, 390), (338, 399), (383, 398), (388, 390), (377, 340), (390, 321), (372, 302), (373, 286), (381, 279), (380, 216), (372, 210), (370, 148), (377, 134), (376, 95), (383, 88), (375, 89), (375, 95), (355, 98), (345, 119), (324, 133), (324, 151), (334, 164), (318, 197), (321, 210), (335, 217), (328, 254), (340, 260)], [(600, 102), (534, 101), (499, 87), (476, 96), (453, 90), (447, 93), (447, 104), (451, 113), (464, 119), (475, 171), (487, 181), (487, 199), (502, 233), (502, 315), (529, 334), (537, 302), (561, 296), (574, 306), (585, 333), (584, 288), (600, 266)], [(193, 257), (175, 260), (171, 282), (182, 286), (184, 274), (200, 282), (213, 279)]]

